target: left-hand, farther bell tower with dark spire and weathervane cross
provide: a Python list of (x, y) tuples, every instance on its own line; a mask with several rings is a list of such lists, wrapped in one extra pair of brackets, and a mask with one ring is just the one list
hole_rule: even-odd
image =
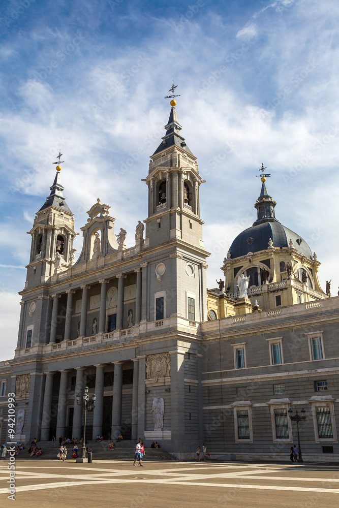
[(27, 265), (26, 288), (33, 288), (49, 279), (54, 272), (65, 270), (74, 258), (74, 217), (68, 207), (60, 180), (60, 157), (50, 195), (37, 212), (33, 228), (30, 258)]

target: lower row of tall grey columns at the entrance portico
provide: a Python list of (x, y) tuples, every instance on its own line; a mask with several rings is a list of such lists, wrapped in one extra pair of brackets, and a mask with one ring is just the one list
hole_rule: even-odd
[[(139, 392), (143, 395), (145, 393), (144, 377), (145, 377), (145, 357), (138, 357), (132, 360), (134, 362), (133, 368), (133, 394), (132, 394), (132, 439), (136, 439), (138, 432), (143, 432), (144, 414), (138, 411)], [(113, 398), (112, 398), (112, 424), (111, 435), (112, 439), (116, 439), (121, 432), (121, 410), (122, 410), (122, 367), (124, 362), (116, 361), (114, 364), (114, 383), (113, 383)], [(140, 365), (139, 365), (140, 364)], [(103, 408), (104, 408), (104, 364), (95, 365), (96, 367), (96, 384), (95, 394), (96, 402), (93, 414), (93, 438), (98, 434), (102, 435), (103, 429)], [(139, 370), (140, 367), (140, 370)], [(84, 389), (84, 370), (85, 367), (78, 367), (76, 370), (76, 382), (74, 390), (74, 412), (73, 412), (73, 428), (72, 436), (78, 437), (83, 434), (83, 407), (82, 407), (82, 394)], [(60, 435), (65, 436), (67, 405), (72, 404), (68, 396), (68, 376), (71, 369), (60, 370), (60, 385), (58, 394), (57, 416), (56, 416), (56, 438)], [(143, 379), (140, 383), (139, 372), (142, 374)], [(47, 441), (50, 434), (50, 424), (53, 418), (52, 408), (52, 390), (53, 390), (53, 376), (56, 372), (46, 372), (46, 382), (43, 397), (43, 410), (42, 410), (42, 424), (41, 424), (41, 440)], [(139, 386), (141, 385), (141, 390)], [(143, 389), (142, 389), (143, 388)], [(80, 394), (80, 403), (77, 403), (76, 396)], [(73, 394), (72, 394), (73, 396)], [(141, 406), (142, 407), (142, 406)]]

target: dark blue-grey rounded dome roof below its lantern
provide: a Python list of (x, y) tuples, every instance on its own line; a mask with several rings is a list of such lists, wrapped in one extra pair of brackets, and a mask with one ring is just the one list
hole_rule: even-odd
[(293, 247), (300, 254), (304, 253), (307, 258), (313, 259), (311, 249), (305, 240), (276, 219), (266, 219), (262, 223), (257, 225), (255, 223), (251, 228), (242, 231), (230, 247), (231, 258), (239, 258), (245, 256), (248, 252), (259, 252), (267, 249), (270, 238), (275, 248), (289, 247), (289, 241), (292, 238)]

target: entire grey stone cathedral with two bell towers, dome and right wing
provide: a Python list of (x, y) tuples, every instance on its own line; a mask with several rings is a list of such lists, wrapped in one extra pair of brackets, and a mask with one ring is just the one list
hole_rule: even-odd
[(17, 439), (79, 438), (77, 396), (87, 386), (96, 394), (87, 439), (121, 432), (146, 445), (157, 440), (178, 458), (203, 442), (214, 458), (263, 458), (263, 450), (285, 458), (296, 441), (290, 416), (302, 409), (306, 459), (333, 460), (339, 298), (322, 291), (316, 254), (276, 219), (263, 171), (257, 220), (225, 253), (219, 287), (207, 290), (203, 180), (171, 105), (133, 247), (98, 199), (75, 261), (74, 217), (57, 166), (29, 232), (15, 357), (0, 363), (1, 439), (8, 393)]

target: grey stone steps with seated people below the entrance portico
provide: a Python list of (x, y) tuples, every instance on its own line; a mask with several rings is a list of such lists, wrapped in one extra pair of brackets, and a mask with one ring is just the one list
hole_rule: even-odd
[[(88, 441), (86, 446), (91, 446), (93, 448), (93, 460), (127, 460), (133, 461), (135, 454), (135, 445), (136, 440), (122, 440), (120, 442), (115, 442), (115, 450), (108, 450), (109, 440), (95, 442)], [(39, 441), (38, 447), (42, 448), (41, 457), (35, 458), (32, 457), (30, 460), (38, 461), (39, 459), (57, 459), (57, 454), (59, 453), (59, 443), (55, 443), (55, 448), (52, 448), (51, 441)], [(72, 448), (73, 444), (67, 445), (67, 460), (72, 460)], [(19, 455), (16, 456), (16, 459), (28, 459), (29, 455), (27, 453), (28, 445), (25, 445), (25, 450), (22, 450)], [(78, 456), (81, 457), (81, 444), (78, 444)], [(74, 460), (74, 459), (73, 459)], [(145, 448), (145, 461), (176, 461), (177, 459), (173, 457), (169, 452), (163, 450), (162, 448)]]

